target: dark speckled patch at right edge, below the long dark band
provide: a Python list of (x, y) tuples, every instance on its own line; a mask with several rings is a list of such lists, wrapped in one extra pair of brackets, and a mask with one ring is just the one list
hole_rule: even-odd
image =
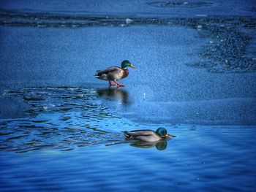
[[(206, 61), (188, 66), (207, 68), (208, 72), (255, 72), (255, 50), (251, 57), (246, 57), (252, 37), (238, 31), (236, 27), (221, 25), (206, 27), (208, 37), (213, 39), (204, 47), (200, 55)], [(198, 26), (197, 26), (198, 28)], [(203, 28), (203, 27), (200, 27)]]

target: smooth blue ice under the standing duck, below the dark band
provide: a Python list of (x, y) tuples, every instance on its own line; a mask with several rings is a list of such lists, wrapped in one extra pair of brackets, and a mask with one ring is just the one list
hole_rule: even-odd
[(123, 109), (110, 103), (120, 114), (155, 122), (255, 123), (254, 73), (208, 73), (187, 66), (206, 62), (198, 56), (200, 47), (211, 44), (195, 29), (1, 27), (1, 31), (2, 91), (17, 83), (108, 88), (93, 77), (95, 71), (129, 59), (137, 69), (130, 69), (121, 82), (133, 104)]

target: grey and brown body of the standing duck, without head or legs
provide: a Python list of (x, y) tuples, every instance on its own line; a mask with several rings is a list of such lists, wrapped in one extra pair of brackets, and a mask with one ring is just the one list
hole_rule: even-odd
[(105, 70), (98, 70), (94, 77), (99, 80), (117, 81), (127, 77), (129, 70), (118, 66), (109, 67)]

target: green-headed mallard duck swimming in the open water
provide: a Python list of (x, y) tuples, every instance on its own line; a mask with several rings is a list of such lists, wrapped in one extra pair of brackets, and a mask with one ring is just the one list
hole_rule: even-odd
[(127, 139), (136, 139), (143, 142), (157, 142), (168, 137), (175, 137), (167, 134), (165, 128), (157, 128), (157, 131), (151, 130), (135, 130), (135, 131), (124, 131), (124, 136)]

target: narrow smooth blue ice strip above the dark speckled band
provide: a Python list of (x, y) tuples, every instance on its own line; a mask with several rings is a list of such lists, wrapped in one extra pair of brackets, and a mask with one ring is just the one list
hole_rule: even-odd
[[(208, 1), (115, 1), (115, 0), (95, 0), (95, 1), (0, 1), (1, 9), (26, 9), (40, 10), (46, 12), (71, 12), (89, 14), (109, 14), (109, 15), (154, 15), (154, 16), (174, 16), (174, 17), (194, 17), (195, 15), (255, 15), (254, 0), (208, 0)], [(187, 3), (187, 4), (186, 4)], [(182, 6), (152, 6), (159, 4), (176, 4)], [(204, 6), (202, 6), (204, 5)]]

